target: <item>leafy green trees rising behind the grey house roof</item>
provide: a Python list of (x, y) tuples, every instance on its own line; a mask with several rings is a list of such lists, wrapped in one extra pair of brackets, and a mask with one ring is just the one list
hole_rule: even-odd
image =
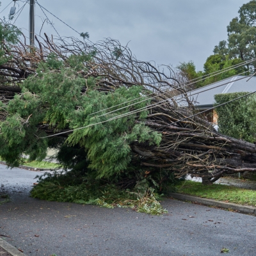
[[(228, 70), (218, 76), (209, 77), (212, 72), (218, 72), (232, 67), (243, 61), (256, 58), (256, 1), (243, 4), (239, 9), (239, 17), (231, 20), (227, 26), (228, 40), (222, 40), (214, 47), (214, 54), (209, 56), (204, 63), (204, 71), (196, 71), (193, 61), (180, 63), (177, 69), (188, 81), (195, 81), (194, 88), (199, 88), (210, 83), (238, 74), (253, 73), (256, 61), (242, 65), (236, 69)], [(201, 81), (199, 81), (201, 80)], [(197, 81), (197, 82), (196, 82)]]

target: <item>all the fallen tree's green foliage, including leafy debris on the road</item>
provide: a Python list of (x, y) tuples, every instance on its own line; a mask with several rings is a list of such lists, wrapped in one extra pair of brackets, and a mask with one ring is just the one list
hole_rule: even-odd
[[(119, 50), (113, 52), (116, 58), (122, 58)], [(22, 154), (29, 161), (42, 161), (47, 148), (58, 150), (64, 171), (39, 178), (31, 191), (37, 198), (160, 214), (164, 210), (157, 193), (173, 190), (173, 173), (138, 168), (141, 158), (131, 147), (132, 143), (158, 146), (161, 133), (144, 124), (147, 111), (125, 115), (146, 107), (150, 99), (140, 101), (147, 93), (142, 86), (99, 92), (100, 77), (79, 75), (93, 64), (94, 56), (95, 51), (81, 52), (64, 62), (49, 54), (36, 74), (20, 84), (22, 93), (0, 104), (7, 113), (0, 124), (0, 156), (9, 166), (19, 166), (24, 163)], [(117, 118), (120, 115), (124, 116)], [(45, 138), (49, 131), (72, 129), (67, 137)]]

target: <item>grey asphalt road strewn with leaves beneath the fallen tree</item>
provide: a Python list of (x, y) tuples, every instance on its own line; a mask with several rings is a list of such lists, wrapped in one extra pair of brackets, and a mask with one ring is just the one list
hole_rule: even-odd
[(29, 197), (37, 172), (0, 166), (0, 234), (26, 255), (256, 255), (256, 218), (176, 200), (168, 214), (46, 202)]

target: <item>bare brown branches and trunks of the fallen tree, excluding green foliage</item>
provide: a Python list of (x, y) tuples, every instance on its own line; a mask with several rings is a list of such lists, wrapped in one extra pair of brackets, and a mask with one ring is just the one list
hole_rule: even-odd
[[(129, 47), (107, 38), (104, 42), (93, 44), (76, 38), (54, 40), (45, 35), (37, 46), (30, 47), (24, 42), (4, 46), (8, 61), (0, 65), (0, 100), (8, 104), (13, 96), (21, 92), (21, 85), (29, 76), (36, 75), (38, 63), (46, 61), (49, 54), (69, 65), (71, 55), (88, 54), (90, 60), (84, 61), (77, 76), (85, 79), (95, 77), (93, 90), (109, 93), (125, 86), (143, 86), (145, 95), (150, 95), (147, 120), (136, 123), (150, 127), (162, 134), (159, 147), (147, 142), (132, 141), (131, 149), (145, 176), (167, 170), (176, 177), (191, 174), (202, 177), (204, 182), (214, 182), (224, 174), (256, 171), (256, 148), (252, 143), (228, 138), (218, 133), (209, 122), (195, 113), (194, 102), (186, 94), (191, 90), (189, 82), (184, 83), (179, 72), (170, 66), (156, 67), (154, 63), (139, 61), (132, 55)], [(81, 93), (89, 89), (84, 86)], [(1, 113), (1, 120), (8, 113)], [(190, 117), (189, 117), (190, 116)], [(38, 129), (48, 135), (58, 133), (47, 124), (38, 124)], [(67, 138), (68, 133), (59, 137)], [(136, 161), (138, 163), (138, 161)], [(164, 179), (164, 178), (163, 178)], [(164, 180), (163, 180), (164, 182)]]

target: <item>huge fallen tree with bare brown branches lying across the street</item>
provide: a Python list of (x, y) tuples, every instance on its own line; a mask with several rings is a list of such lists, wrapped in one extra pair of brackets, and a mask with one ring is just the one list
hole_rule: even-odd
[(120, 188), (145, 179), (159, 191), (173, 174), (211, 183), (256, 171), (255, 145), (193, 116), (189, 83), (172, 67), (138, 61), (111, 38), (36, 42), (2, 40), (0, 156), (10, 166), (58, 148), (67, 169)]

